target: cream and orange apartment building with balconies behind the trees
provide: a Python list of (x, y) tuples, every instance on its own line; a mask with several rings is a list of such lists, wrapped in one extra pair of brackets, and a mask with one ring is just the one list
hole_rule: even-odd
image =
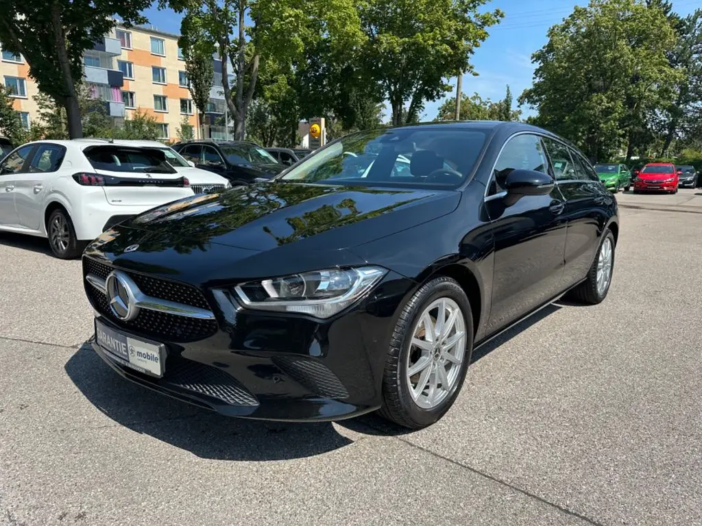
[[(39, 90), (22, 56), (5, 50), (1, 53), (0, 81), (13, 91), (15, 110), (29, 127), (37, 119), (37, 104), (32, 97)], [(208, 130), (223, 126), (226, 111), (222, 64), (213, 60), (215, 79), (204, 116), (205, 123), (213, 125)], [(93, 96), (105, 101), (107, 114), (118, 126), (140, 111), (156, 119), (162, 140), (176, 140), (184, 117), (199, 135), (197, 108), (187, 88), (178, 35), (148, 27), (117, 27), (93, 49), (86, 50), (84, 73)]]

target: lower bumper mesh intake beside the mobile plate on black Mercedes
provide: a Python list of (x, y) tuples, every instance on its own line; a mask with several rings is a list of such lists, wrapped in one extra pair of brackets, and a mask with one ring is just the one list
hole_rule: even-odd
[(201, 393), (232, 405), (258, 405), (258, 400), (236, 379), (217, 367), (204, 365), (173, 356), (168, 361), (164, 386), (170, 384), (181, 389)]

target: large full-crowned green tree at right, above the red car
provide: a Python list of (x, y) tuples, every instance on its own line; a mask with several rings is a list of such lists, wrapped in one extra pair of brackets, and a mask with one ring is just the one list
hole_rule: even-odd
[(631, 151), (647, 112), (671, 100), (680, 78), (666, 55), (675, 32), (665, 13), (640, 0), (591, 0), (551, 27), (548, 39), (532, 55), (534, 85), (519, 102), (591, 159), (625, 143)]

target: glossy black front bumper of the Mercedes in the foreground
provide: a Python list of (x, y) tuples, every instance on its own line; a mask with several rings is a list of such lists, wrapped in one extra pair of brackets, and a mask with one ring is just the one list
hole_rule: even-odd
[[(213, 309), (218, 325), (213, 335), (194, 342), (164, 342), (161, 378), (114, 360), (94, 337), (91, 345), (121, 377), (230, 417), (344, 419), (380, 407), (392, 325), (405, 290), (412, 287), (413, 282), (390, 274), (369, 297), (324, 322), (247, 311), (220, 298)], [(153, 339), (100, 312), (99, 302), (93, 306), (110, 328)]]

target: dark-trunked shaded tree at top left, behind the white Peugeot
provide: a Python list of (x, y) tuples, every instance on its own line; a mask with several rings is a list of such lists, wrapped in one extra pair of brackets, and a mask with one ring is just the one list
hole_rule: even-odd
[(144, 23), (150, 0), (0, 0), (0, 41), (21, 53), (39, 90), (65, 110), (70, 137), (82, 137), (75, 86), (83, 76), (83, 53), (110, 32), (118, 15), (124, 24)]

